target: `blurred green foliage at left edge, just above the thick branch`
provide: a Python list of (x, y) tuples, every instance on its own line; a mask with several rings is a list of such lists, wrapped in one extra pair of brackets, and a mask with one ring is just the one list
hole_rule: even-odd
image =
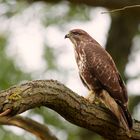
[(0, 36), (0, 89), (8, 88), (22, 80), (30, 80), (30, 75), (23, 73), (6, 54), (7, 40)]

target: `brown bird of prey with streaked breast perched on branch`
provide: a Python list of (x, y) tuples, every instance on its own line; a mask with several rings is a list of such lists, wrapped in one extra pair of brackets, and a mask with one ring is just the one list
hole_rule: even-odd
[(79, 75), (84, 85), (129, 131), (132, 118), (127, 108), (127, 91), (112, 57), (84, 30), (73, 29), (65, 38), (74, 44)]

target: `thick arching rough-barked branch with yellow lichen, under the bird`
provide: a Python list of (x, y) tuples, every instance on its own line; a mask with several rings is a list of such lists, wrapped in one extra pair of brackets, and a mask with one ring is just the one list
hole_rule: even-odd
[(0, 93), (0, 112), (12, 109), (9, 115), (16, 115), (39, 106), (49, 107), (71, 123), (110, 140), (140, 140), (140, 122), (134, 122), (130, 138), (109, 110), (89, 103), (57, 81), (31, 81)]

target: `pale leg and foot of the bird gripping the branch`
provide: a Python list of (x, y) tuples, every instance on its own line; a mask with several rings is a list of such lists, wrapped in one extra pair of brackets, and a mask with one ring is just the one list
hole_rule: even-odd
[(96, 105), (100, 104), (100, 100), (99, 98), (96, 96), (95, 92), (93, 90), (89, 90), (89, 94), (86, 97), (86, 99), (90, 102), (90, 103), (95, 103)]

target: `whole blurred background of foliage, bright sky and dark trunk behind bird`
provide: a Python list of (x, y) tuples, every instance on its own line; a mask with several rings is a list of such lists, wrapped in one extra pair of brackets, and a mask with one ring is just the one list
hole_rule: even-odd
[[(78, 79), (72, 44), (64, 40), (70, 29), (83, 28), (114, 58), (127, 84), (129, 109), (133, 117), (139, 119), (140, 8), (101, 14), (125, 5), (127, 1), (1, 0), (0, 90), (28, 80), (53, 78), (84, 96), (87, 91)], [(61, 140), (103, 140), (44, 107), (23, 115), (48, 125)], [(36, 138), (16, 127), (0, 126), (0, 140), (15, 139)]]

